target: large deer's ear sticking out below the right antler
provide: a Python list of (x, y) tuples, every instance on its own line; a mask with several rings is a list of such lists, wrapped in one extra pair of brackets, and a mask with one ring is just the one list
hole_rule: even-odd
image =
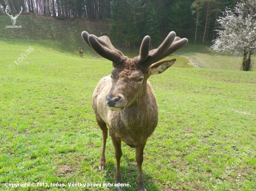
[(175, 61), (176, 61), (176, 59), (172, 59), (172, 60), (165, 60), (162, 62), (157, 62), (157, 63), (151, 64), (148, 68), (150, 76), (156, 75), (156, 74), (161, 74), (162, 72), (167, 70), (170, 66), (172, 66), (172, 64), (174, 64)]

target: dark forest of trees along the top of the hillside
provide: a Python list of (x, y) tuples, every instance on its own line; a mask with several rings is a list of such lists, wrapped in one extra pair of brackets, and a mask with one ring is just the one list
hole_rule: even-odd
[(0, 13), (38, 13), (53, 17), (111, 20), (110, 36), (120, 46), (140, 45), (150, 35), (152, 48), (161, 35), (175, 31), (194, 42), (216, 38), (216, 19), (236, 0), (0, 0)]

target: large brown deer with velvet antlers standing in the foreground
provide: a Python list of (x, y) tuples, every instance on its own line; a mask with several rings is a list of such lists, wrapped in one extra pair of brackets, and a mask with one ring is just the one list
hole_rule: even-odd
[[(143, 149), (158, 122), (158, 107), (148, 77), (167, 70), (176, 59), (158, 62), (188, 43), (187, 38), (170, 32), (157, 49), (149, 51), (150, 37), (143, 38), (140, 55), (128, 59), (115, 49), (107, 36), (100, 38), (82, 32), (82, 38), (94, 51), (113, 62), (110, 75), (103, 77), (93, 93), (92, 107), (102, 130), (103, 143), (99, 170), (105, 168), (105, 147), (109, 135), (115, 147), (115, 183), (122, 183), (120, 159), (121, 140), (135, 148), (137, 162), (136, 185), (146, 191), (141, 174)], [(120, 190), (121, 186), (117, 186)]]

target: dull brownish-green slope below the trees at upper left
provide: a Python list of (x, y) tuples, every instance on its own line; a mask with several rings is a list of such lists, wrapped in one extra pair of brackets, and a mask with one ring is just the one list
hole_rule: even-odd
[(22, 28), (6, 28), (11, 25), (11, 19), (7, 15), (0, 16), (0, 39), (31, 39), (45, 41), (54, 44), (58, 51), (77, 54), (78, 47), (84, 51), (91, 51), (82, 38), (81, 32), (88, 31), (97, 36), (101, 32), (109, 31), (107, 20), (46, 17), (39, 14), (20, 14), (16, 25)]

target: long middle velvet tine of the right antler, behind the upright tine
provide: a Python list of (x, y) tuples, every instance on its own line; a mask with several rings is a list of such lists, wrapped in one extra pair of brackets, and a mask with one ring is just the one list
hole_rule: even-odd
[(142, 70), (148, 70), (148, 67), (155, 62), (155, 60), (159, 57), (161, 57), (165, 51), (169, 48), (169, 46), (172, 44), (176, 36), (175, 32), (170, 32), (168, 36), (164, 39), (162, 44), (154, 50), (149, 51), (148, 58), (145, 60), (145, 62), (141, 63)]

